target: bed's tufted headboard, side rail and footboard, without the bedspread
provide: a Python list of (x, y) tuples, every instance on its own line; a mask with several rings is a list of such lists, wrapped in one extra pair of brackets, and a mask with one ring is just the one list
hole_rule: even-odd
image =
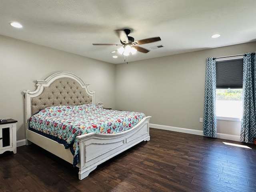
[[(32, 115), (43, 109), (61, 106), (86, 106), (100, 110), (95, 106), (95, 92), (89, 90), (89, 84), (79, 76), (70, 72), (58, 72), (48, 76), (45, 80), (37, 80), (36, 90), (24, 91), (25, 96), (25, 126), (26, 144), (31, 142), (66, 160), (79, 168), (80, 180), (86, 178), (99, 164), (124, 152), (132, 146), (149, 141), (149, 120), (151, 116), (144, 116), (135, 126), (113, 134), (101, 132), (87, 132), (78, 134), (79, 143), (78, 162), (74, 164), (74, 154), (64, 144), (44, 134), (35, 132), (30, 127)], [(102, 109), (103, 111), (103, 109)], [(104, 113), (106, 112), (103, 111)], [(109, 111), (110, 112), (110, 111)], [(113, 111), (117, 113), (117, 111)], [(29, 128), (30, 127), (30, 128)]]

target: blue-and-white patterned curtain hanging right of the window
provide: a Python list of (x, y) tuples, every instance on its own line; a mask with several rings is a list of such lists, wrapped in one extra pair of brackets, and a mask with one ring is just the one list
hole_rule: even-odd
[(256, 138), (256, 56), (246, 53), (243, 65), (243, 115), (241, 142), (252, 142)]

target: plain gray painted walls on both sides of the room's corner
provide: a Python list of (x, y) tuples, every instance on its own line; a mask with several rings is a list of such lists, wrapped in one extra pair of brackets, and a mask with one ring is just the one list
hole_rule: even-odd
[[(90, 83), (105, 107), (144, 112), (152, 124), (202, 130), (206, 58), (252, 51), (256, 42), (114, 65), (0, 36), (0, 118), (18, 120), (17, 140), (24, 139), (23, 91), (68, 71)], [(218, 121), (218, 132), (238, 135), (239, 127)]]

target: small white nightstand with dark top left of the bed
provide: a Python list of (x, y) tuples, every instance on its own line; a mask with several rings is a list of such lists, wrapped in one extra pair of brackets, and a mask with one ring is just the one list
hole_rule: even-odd
[(16, 123), (14, 119), (0, 122), (0, 154), (6, 151), (17, 153), (16, 148)]

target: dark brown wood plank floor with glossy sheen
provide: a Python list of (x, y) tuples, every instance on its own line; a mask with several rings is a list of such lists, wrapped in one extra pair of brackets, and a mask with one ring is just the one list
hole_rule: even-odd
[[(0, 155), (1, 192), (254, 192), (256, 145), (150, 128), (151, 140), (78, 170), (30, 145)], [(226, 145), (243, 144), (248, 148)]]

